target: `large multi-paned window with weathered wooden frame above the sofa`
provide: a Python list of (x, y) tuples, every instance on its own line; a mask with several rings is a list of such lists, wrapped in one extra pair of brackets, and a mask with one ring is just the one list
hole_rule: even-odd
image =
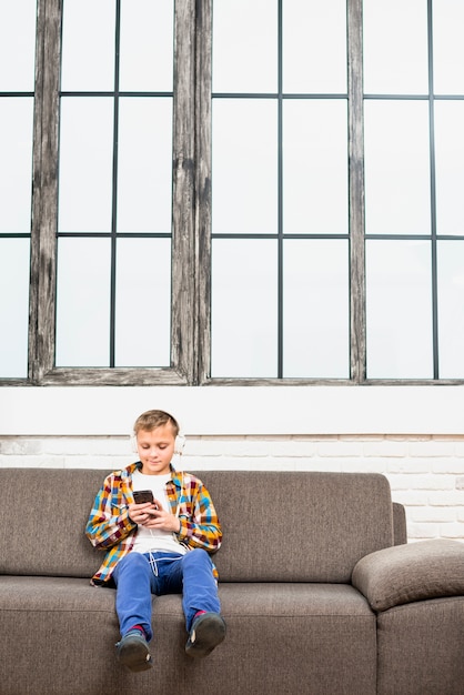
[(0, 383), (464, 380), (463, 23), (1, 3)]

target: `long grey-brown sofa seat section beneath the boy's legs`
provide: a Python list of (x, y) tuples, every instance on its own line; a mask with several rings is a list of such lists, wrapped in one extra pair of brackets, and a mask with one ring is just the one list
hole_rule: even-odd
[(353, 586), (220, 583), (219, 592), (228, 634), (208, 659), (184, 653), (181, 596), (153, 596), (153, 668), (131, 674), (115, 659), (113, 590), (0, 576), (2, 695), (375, 694), (375, 614)]

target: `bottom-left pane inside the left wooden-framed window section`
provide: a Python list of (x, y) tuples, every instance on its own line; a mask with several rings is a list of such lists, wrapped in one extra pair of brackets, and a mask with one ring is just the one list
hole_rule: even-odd
[(109, 366), (108, 239), (59, 239), (57, 366)]

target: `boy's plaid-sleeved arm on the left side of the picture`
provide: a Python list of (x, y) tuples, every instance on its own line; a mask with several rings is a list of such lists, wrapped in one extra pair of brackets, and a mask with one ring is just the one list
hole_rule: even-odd
[(85, 526), (85, 535), (94, 547), (109, 548), (117, 545), (137, 528), (129, 517), (122, 494), (112, 492), (107, 480), (97, 494)]

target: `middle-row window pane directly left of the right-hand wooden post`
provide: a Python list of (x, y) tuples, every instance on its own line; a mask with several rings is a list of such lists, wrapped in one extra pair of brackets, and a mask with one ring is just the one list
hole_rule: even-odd
[(347, 233), (346, 103), (285, 101), (285, 233)]

